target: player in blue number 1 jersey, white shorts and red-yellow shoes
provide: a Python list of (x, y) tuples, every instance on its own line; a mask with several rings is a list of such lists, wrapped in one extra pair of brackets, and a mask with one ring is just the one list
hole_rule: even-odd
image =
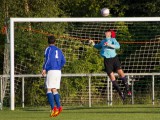
[(60, 95), (57, 89), (60, 89), (61, 69), (66, 63), (62, 51), (55, 46), (55, 40), (54, 36), (48, 36), (49, 46), (45, 49), (45, 61), (42, 70), (42, 76), (46, 75), (46, 95), (52, 109), (50, 117), (56, 117), (62, 111)]

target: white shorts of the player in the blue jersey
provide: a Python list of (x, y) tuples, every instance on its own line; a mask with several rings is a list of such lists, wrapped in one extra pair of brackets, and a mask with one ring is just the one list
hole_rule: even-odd
[(49, 70), (45, 81), (46, 88), (60, 89), (61, 71)]

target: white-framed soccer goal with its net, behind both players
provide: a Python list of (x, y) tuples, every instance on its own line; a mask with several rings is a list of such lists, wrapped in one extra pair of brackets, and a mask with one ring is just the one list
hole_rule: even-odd
[[(21, 106), (21, 103), (28, 106), (48, 105), (44, 78), (39, 75), (48, 35), (56, 37), (56, 46), (62, 49), (66, 57), (63, 74), (77, 74), (77, 77), (62, 77), (60, 94), (64, 106), (85, 106), (89, 100), (92, 105), (105, 105), (108, 100), (121, 104), (118, 94), (110, 92), (112, 87), (110, 82), (108, 84), (107, 76), (92, 76), (90, 84), (88, 77), (78, 76), (82, 73), (105, 74), (103, 58), (98, 50), (89, 45), (89, 40), (99, 43), (108, 29), (116, 32), (116, 39), (121, 45), (117, 53), (122, 69), (128, 74), (138, 74), (129, 76), (131, 83), (134, 81), (134, 103), (152, 103), (152, 76), (140, 73), (160, 71), (160, 18), (11, 18), (11, 59), (4, 57), (8, 56), (8, 52), (4, 52), (2, 57), (3, 71), (11, 64), (10, 71), (3, 74), (10, 74), (11, 78), (1, 78), (3, 105), (10, 106), (10, 101), (11, 109), (14, 109), (14, 104)], [(8, 47), (4, 51), (6, 49)], [(154, 95), (158, 102), (159, 76), (154, 79)], [(118, 82), (124, 89), (121, 81)], [(23, 84), (25, 89), (22, 89)], [(21, 97), (22, 93), (25, 99), (23, 95)]]

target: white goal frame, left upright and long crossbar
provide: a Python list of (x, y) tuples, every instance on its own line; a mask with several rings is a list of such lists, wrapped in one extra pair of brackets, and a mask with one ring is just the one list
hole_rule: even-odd
[[(159, 22), (160, 17), (106, 17), (106, 18), (10, 18), (10, 105), (11, 110), (15, 109), (15, 23), (29, 22)], [(145, 32), (145, 30), (144, 30)], [(88, 38), (89, 39), (89, 38)], [(156, 41), (157, 42), (157, 41)], [(159, 42), (159, 40), (158, 40)], [(141, 49), (141, 48), (139, 48)], [(158, 48), (159, 50), (159, 48)], [(157, 63), (156, 63), (157, 64)], [(158, 63), (159, 64), (159, 63)], [(158, 65), (157, 64), (157, 65)], [(135, 65), (134, 65), (135, 66)], [(139, 69), (139, 68), (138, 68)]]

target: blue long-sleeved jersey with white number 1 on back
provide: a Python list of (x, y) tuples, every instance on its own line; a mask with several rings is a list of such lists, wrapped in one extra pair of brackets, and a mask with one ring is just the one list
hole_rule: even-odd
[(45, 50), (45, 61), (43, 70), (61, 70), (66, 63), (62, 51), (54, 45), (50, 45)]

